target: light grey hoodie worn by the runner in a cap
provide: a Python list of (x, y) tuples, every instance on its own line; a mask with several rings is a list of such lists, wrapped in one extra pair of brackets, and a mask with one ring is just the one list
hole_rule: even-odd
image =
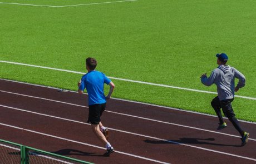
[(220, 65), (211, 72), (209, 78), (202, 77), (201, 82), (205, 86), (211, 86), (213, 83), (217, 86), (219, 100), (234, 98), (235, 78), (239, 78), (237, 87), (242, 88), (245, 85), (245, 77), (237, 69), (230, 66)]

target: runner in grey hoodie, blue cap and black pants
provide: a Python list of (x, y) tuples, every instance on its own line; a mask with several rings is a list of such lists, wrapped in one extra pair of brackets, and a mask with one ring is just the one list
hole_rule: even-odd
[[(214, 108), (218, 118), (219, 118), (219, 127), (218, 130), (221, 130), (227, 127), (227, 123), (223, 121), (220, 108), (229, 121), (232, 122), (233, 126), (242, 136), (242, 145), (245, 145), (248, 142), (249, 133), (244, 132), (239, 125), (237, 118), (235, 118), (235, 113), (232, 108), (232, 101), (234, 100), (235, 92), (239, 88), (244, 87), (245, 77), (234, 67), (227, 66), (228, 56), (225, 53), (216, 54), (218, 68), (214, 69), (211, 72), (210, 77), (208, 78), (205, 74), (201, 76), (201, 82), (205, 86), (211, 86), (213, 83), (217, 86), (218, 96), (211, 101), (211, 106)], [(235, 78), (239, 79), (238, 85), (235, 87)]]

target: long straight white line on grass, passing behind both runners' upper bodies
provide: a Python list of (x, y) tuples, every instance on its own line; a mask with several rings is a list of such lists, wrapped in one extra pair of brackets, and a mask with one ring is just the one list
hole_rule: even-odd
[[(52, 70), (55, 70), (55, 71), (62, 71), (62, 72), (69, 72), (69, 73), (76, 73), (76, 74), (86, 74), (85, 72), (77, 72), (77, 71), (70, 71), (70, 70), (67, 70), (67, 69), (36, 66), (36, 65), (32, 65), (32, 64), (24, 64), (24, 63), (9, 62), (9, 61), (0, 61), (0, 62), (1, 63), (16, 64), (16, 65), (21, 65), (21, 66), (28, 66), (28, 67), (52, 69)], [(194, 90), (194, 89), (190, 89), (190, 88), (175, 87), (175, 86), (169, 86), (169, 85), (161, 85), (161, 84), (157, 84), (157, 83), (150, 83), (150, 82), (143, 82), (143, 81), (135, 81), (135, 80), (132, 80), (132, 79), (117, 78), (117, 77), (109, 77), (109, 78), (117, 79), (117, 80), (120, 80), (120, 81), (126, 81), (126, 82), (141, 83), (141, 84), (151, 85), (151, 86), (174, 88), (174, 89), (178, 89), (178, 90), (186, 90), (186, 91), (201, 92), (201, 93), (210, 93), (210, 94), (215, 94), (215, 95), (217, 94), (216, 92), (209, 92), (209, 91), (203, 91), (203, 90)], [(235, 97), (245, 98), (245, 99), (249, 99), (249, 100), (256, 100), (255, 97), (238, 96), (238, 95), (235, 95)]]

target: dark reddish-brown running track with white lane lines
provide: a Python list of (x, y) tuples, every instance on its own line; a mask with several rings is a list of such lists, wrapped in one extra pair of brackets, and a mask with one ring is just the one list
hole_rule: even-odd
[(116, 152), (102, 156), (86, 106), (87, 95), (0, 79), (0, 138), (95, 163), (256, 163), (255, 123), (240, 122), (241, 147), (228, 120), (216, 131), (213, 116), (117, 99), (102, 116)]

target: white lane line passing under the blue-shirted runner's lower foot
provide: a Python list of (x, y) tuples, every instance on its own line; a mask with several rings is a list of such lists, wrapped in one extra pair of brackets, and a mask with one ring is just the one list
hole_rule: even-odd
[[(0, 123), (0, 125), (7, 126), (7, 127), (12, 127), (12, 128), (16, 128), (16, 129), (18, 129), (18, 130), (23, 130), (23, 131), (27, 131), (27, 132), (37, 133), (37, 134), (43, 135), (43, 136), (48, 136), (48, 137), (52, 137), (52, 138), (57, 138), (57, 139), (60, 139), (60, 140), (65, 140), (65, 141), (69, 141), (69, 142), (74, 142), (74, 143), (78, 143), (78, 144), (81, 144), (81, 145), (96, 147), (96, 148), (100, 148), (100, 149), (103, 149), (103, 150), (106, 149), (106, 148), (104, 148), (104, 147), (100, 147), (100, 146), (96, 146), (96, 145), (91, 145), (91, 144), (89, 144), (89, 143), (84, 143), (84, 142), (75, 141), (75, 140), (70, 140), (70, 139), (63, 138), (63, 137), (53, 136), (53, 135), (49, 135), (49, 134), (46, 134), (46, 133), (41, 133), (41, 132), (37, 132), (37, 131), (33, 131), (33, 130), (28, 130), (28, 129), (22, 128), (22, 127), (7, 125), (7, 124), (5, 124), (5, 123)], [(115, 152), (120, 153), (120, 154), (123, 154), (123, 155), (131, 156), (131, 157), (141, 158), (141, 159), (147, 160), (147, 161), (152, 161), (152, 162), (157, 162), (157, 163), (166, 163), (166, 162), (163, 162), (163, 161), (153, 160), (153, 159), (151, 159), (151, 158), (146, 158), (146, 157), (142, 157), (142, 156), (133, 155), (133, 154), (131, 154), (131, 153), (126, 153), (126, 152), (121, 152), (121, 151), (116, 151), (116, 150), (115, 150)]]

